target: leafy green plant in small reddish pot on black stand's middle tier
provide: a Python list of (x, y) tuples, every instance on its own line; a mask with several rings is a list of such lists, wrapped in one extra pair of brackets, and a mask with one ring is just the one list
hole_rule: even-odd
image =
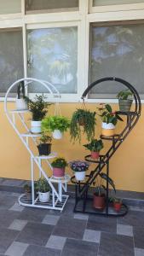
[(100, 156), (100, 151), (103, 148), (103, 143), (101, 139), (92, 139), (91, 142), (89, 144), (85, 144), (84, 147), (91, 151), (91, 158), (98, 159)]

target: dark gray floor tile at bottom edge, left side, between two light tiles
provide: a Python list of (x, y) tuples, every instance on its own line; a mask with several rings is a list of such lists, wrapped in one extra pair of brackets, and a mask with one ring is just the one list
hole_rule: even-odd
[(60, 256), (60, 251), (51, 248), (30, 245), (26, 249), (26, 252), (23, 256)]

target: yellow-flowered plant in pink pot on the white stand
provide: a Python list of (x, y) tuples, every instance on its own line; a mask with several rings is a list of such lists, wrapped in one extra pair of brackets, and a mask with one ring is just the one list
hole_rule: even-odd
[(54, 177), (64, 177), (65, 176), (65, 168), (67, 166), (67, 162), (63, 157), (55, 157), (53, 162), (51, 163), (53, 167), (53, 176)]

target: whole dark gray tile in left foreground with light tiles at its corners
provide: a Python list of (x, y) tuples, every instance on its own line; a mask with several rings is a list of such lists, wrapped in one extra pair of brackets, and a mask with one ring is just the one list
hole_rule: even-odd
[(52, 225), (28, 223), (16, 241), (45, 246), (53, 230)]

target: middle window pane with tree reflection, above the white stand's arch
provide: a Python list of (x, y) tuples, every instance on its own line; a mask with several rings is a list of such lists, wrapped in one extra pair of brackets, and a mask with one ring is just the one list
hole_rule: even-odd
[[(27, 38), (29, 76), (51, 82), (61, 93), (76, 93), (77, 27), (30, 30)], [(44, 91), (39, 86), (32, 88), (32, 92)]]

